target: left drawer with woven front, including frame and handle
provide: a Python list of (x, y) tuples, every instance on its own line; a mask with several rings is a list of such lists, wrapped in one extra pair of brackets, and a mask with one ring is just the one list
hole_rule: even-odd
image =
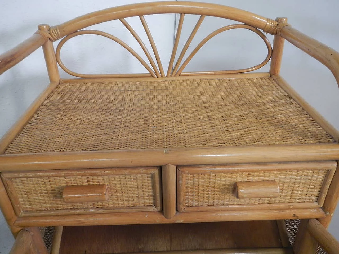
[(18, 216), (161, 210), (159, 167), (1, 173)]

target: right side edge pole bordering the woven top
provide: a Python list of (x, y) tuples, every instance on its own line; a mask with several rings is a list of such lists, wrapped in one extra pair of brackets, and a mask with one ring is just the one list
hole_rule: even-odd
[(319, 112), (307, 103), (280, 75), (273, 75), (272, 78), (285, 90), (335, 141), (339, 141), (339, 131), (333, 127)]

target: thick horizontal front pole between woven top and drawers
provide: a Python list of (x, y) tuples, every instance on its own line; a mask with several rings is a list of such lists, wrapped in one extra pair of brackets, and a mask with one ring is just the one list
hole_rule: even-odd
[(339, 145), (262, 145), (0, 155), (0, 170), (21, 171), (222, 163), (336, 160)]

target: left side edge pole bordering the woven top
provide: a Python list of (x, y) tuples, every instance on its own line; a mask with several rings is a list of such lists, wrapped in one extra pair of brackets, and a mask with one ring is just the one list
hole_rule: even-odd
[(0, 155), (5, 152), (7, 146), (15, 139), (26, 123), (31, 119), (35, 111), (44, 102), (47, 96), (59, 85), (57, 82), (51, 82), (40, 96), (28, 107), (22, 117), (9, 129), (0, 139)]

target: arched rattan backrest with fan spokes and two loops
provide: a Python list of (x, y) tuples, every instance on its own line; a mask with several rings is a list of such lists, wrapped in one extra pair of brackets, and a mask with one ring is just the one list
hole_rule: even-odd
[[(175, 40), (174, 46), (171, 54), (171, 58), (169, 60), (167, 70), (164, 69), (163, 63), (160, 59), (158, 49), (155, 45), (152, 33), (148, 27), (148, 24), (145, 20), (146, 15), (153, 14), (178, 14), (178, 24), (175, 32)], [(183, 27), (183, 23), (185, 21), (185, 15), (193, 14), (199, 15), (199, 19), (194, 26), (192, 33), (188, 37), (186, 43), (184, 44), (181, 50), (178, 50), (179, 39), (181, 35), (181, 30)], [(126, 21), (126, 18), (129, 17), (139, 17), (140, 22), (147, 34), (147, 38), (153, 50), (153, 55), (155, 59), (151, 56), (149, 49), (145, 46), (145, 43), (142, 41), (140, 36), (136, 33), (133, 27)], [(188, 57), (184, 58), (187, 53), (187, 49), (189, 48), (194, 36), (196, 35), (200, 25), (204, 21), (206, 16), (219, 17), (224, 19), (234, 20), (240, 23), (226, 25), (220, 27), (212, 31), (209, 35), (207, 35), (198, 45), (192, 50), (192, 52), (188, 55)], [(119, 20), (133, 35), (135, 40), (138, 42), (142, 51), (144, 52), (147, 59), (143, 59), (133, 48), (131, 48), (127, 43), (125, 43), (120, 38), (108, 34), (104, 31), (98, 31), (93, 29), (85, 29), (88, 26), (92, 26), (98, 23)], [(224, 31), (231, 29), (248, 29), (257, 34), (265, 43), (267, 47), (267, 55), (264, 60), (252, 67), (243, 68), (243, 69), (235, 69), (235, 70), (218, 70), (218, 71), (200, 71), (200, 72), (183, 72), (184, 68), (187, 66), (188, 62), (194, 57), (194, 55), (198, 52), (198, 50), (210, 39), (214, 36), (223, 33)], [(99, 35), (106, 38), (109, 38), (122, 47), (127, 49), (138, 61), (145, 67), (148, 73), (141, 73), (136, 76), (152, 76), (152, 77), (178, 77), (185, 75), (203, 75), (203, 74), (225, 74), (225, 73), (242, 73), (248, 72), (252, 70), (256, 70), (262, 66), (264, 66), (271, 58), (272, 55), (272, 46), (270, 41), (267, 39), (265, 34), (260, 31), (262, 29), (264, 33), (276, 34), (278, 29), (278, 23), (272, 19), (264, 18), (258, 15), (255, 15), (250, 12), (246, 12), (244, 10), (240, 10), (233, 7), (217, 5), (217, 4), (209, 4), (209, 3), (197, 3), (197, 2), (185, 2), (185, 1), (163, 1), (163, 2), (151, 2), (151, 3), (140, 3), (140, 4), (130, 4), (124, 6), (113, 7), (109, 9), (99, 10), (97, 12), (93, 12), (90, 14), (86, 14), (80, 16), (78, 18), (72, 19), (68, 22), (60, 24), (58, 26), (49, 27), (47, 36), (51, 41), (56, 41), (58, 39), (63, 38), (56, 48), (56, 60), (60, 67), (70, 75), (81, 77), (81, 78), (110, 78), (110, 77), (128, 77), (131, 74), (83, 74), (77, 73), (69, 70), (62, 62), (60, 57), (60, 50), (62, 46), (69, 39), (84, 35), (84, 34), (92, 34)], [(40, 31), (41, 32), (41, 31)], [(170, 31), (172, 32), (172, 31)], [(167, 66), (167, 63), (166, 63)]]

